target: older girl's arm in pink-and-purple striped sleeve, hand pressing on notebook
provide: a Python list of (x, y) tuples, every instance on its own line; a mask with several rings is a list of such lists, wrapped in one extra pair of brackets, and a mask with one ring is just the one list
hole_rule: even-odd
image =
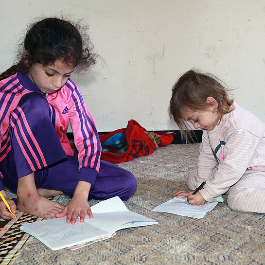
[(69, 120), (78, 151), (79, 176), (73, 197), (65, 209), (56, 215), (67, 214), (67, 222), (74, 224), (78, 215), (83, 222), (85, 214), (92, 218), (88, 195), (94, 187), (100, 168), (101, 143), (94, 119), (85, 105), (77, 86), (69, 79), (66, 86), (71, 90), (69, 99)]

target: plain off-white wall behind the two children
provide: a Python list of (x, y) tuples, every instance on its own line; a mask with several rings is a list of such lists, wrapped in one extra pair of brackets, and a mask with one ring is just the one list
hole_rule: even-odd
[(10, 0), (1, 1), (0, 71), (38, 16), (86, 18), (104, 62), (72, 75), (99, 131), (134, 119), (148, 130), (175, 129), (171, 87), (195, 67), (225, 81), (236, 101), (265, 122), (265, 1)]

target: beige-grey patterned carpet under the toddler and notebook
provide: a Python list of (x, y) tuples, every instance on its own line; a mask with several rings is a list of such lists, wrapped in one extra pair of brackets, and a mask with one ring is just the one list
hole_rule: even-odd
[(174, 192), (187, 188), (186, 178), (197, 157), (198, 145), (172, 144), (119, 164), (138, 182), (126, 207), (158, 225), (120, 230), (77, 250), (52, 251), (33, 238), (14, 265), (265, 265), (265, 214), (231, 211), (226, 196), (202, 219), (152, 212)]

